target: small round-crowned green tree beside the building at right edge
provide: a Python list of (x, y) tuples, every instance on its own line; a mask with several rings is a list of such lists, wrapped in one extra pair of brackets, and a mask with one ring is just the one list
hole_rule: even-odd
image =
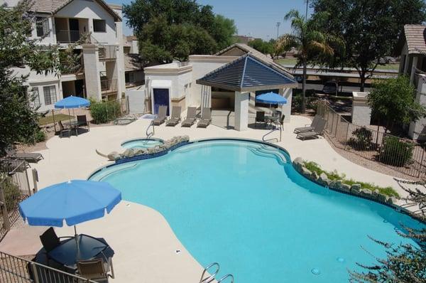
[(395, 124), (410, 124), (426, 114), (425, 107), (415, 101), (410, 78), (403, 75), (377, 80), (368, 95), (368, 105), (379, 122), (386, 122), (386, 129), (393, 129)]

